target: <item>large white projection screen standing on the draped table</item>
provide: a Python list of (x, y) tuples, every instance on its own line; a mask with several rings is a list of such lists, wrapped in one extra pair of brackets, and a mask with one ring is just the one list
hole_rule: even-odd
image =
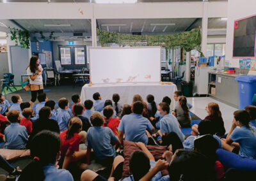
[(161, 47), (95, 47), (89, 51), (92, 83), (161, 80)]

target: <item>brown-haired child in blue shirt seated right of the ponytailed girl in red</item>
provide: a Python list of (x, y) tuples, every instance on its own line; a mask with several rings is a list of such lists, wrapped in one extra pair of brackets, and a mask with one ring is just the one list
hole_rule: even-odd
[(104, 117), (99, 112), (92, 114), (91, 121), (93, 127), (88, 129), (86, 137), (87, 164), (90, 164), (90, 152), (93, 149), (97, 163), (110, 166), (116, 156), (116, 150), (113, 145), (117, 144), (119, 146), (118, 138), (109, 127), (102, 127)]

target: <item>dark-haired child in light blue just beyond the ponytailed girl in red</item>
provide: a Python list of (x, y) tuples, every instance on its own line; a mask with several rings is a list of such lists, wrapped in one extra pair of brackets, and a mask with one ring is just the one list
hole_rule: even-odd
[(68, 99), (61, 98), (58, 105), (61, 108), (61, 110), (57, 113), (58, 124), (60, 126), (60, 131), (65, 131), (68, 129), (68, 121), (70, 119), (70, 114), (67, 111), (69, 106)]

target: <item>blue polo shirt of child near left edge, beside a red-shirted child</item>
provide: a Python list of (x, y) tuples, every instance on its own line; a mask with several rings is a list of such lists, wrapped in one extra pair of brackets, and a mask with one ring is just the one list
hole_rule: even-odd
[(12, 122), (4, 130), (6, 143), (4, 148), (13, 150), (26, 149), (28, 142), (28, 133), (25, 126), (21, 126), (18, 122)]

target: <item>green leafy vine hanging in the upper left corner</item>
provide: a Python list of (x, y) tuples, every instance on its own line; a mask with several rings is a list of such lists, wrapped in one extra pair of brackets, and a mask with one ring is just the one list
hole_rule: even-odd
[(17, 29), (15, 27), (9, 27), (11, 33), (11, 40), (15, 41), (15, 45), (20, 45), (21, 48), (29, 49), (30, 41), (29, 41), (29, 32), (23, 31), (21, 29)]

